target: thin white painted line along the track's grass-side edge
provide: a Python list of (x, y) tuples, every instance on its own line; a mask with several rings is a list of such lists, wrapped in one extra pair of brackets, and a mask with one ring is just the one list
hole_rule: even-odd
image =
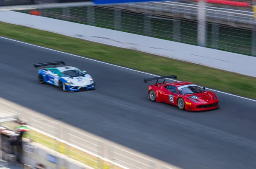
[[(136, 72), (139, 72), (139, 73), (148, 74), (148, 75), (151, 75), (151, 76), (160, 77), (160, 76), (155, 75), (155, 74), (146, 73), (146, 72), (142, 72), (142, 71), (134, 70), (134, 69), (130, 69), (130, 68), (125, 68), (125, 67), (118, 66), (118, 65), (113, 65), (113, 64), (111, 64), (111, 63), (106, 63), (106, 62), (102, 62), (102, 61), (99, 61), (99, 60), (90, 59), (90, 58), (87, 58), (87, 57), (84, 57), (84, 56), (78, 56), (78, 55), (75, 55), (75, 54), (69, 54), (69, 53), (67, 53), (67, 52), (57, 51), (57, 50), (54, 50), (54, 49), (45, 48), (45, 47), (42, 47), (42, 46), (33, 45), (33, 44), (30, 44), (30, 43), (26, 43), (26, 42), (21, 42), (21, 41), (15, 40), (15, 39), (10, 39), (10, 38), (6, 38), (6, 37), (0, 37), (0, 38), (2, 38), (2, 39), (8, 39), (8, 40), (11, 40), (11, 41), (14, 41), (14, 42), (23, 43), (23, 44), (26, 44), (26, 45), (35, 46), (35, 47), (38, 47), (38, 48), (47, 49), (47, 50), (50, 50), (50, 51), (55, 51), (55, 52), (58, 52), (58, 53), (61, 53), (61, 54), (67, 54), (67, 55), (70, 55), (70, 56), (75, 56), (75, 57), (79, 57), (79, 58), (91, 60), (91, 61), (94, 61), (94, 62), (104, 63), (104, 64), (106, 64), (106, 65), (111, 65), (111, 66), (115, 66), (115, 67), (118, 67), (118, 68), (123, 68), (123, 69), (127, 69), (127, 70), (136, 71)], [(175, 81), (175, 82), (180, 82), (180, 81), (174, 80), (174, 79), (169, 79), (169, 80), (172, 80), (172, 81)], [(230, 93), (226, 93), (226, 92), (221, 92), (221, 91), (214, 90), (214, 89), (210, 89), (210, 88), (207, 88), (207, 87), (205, 87), (205, 88), (208, 89), (208, 90), (212, 90), (212, 91), (218, 92), (218, 93), (223, 93), (223, 94), (226, 94), (226, 95), (235, 96), (235, 97), (238, 97), (238, 98), (241, 98), (241, 99), (246, 99), (246, 100), (250, 100), (250, 101), (255, 101), (255, 102), (256, 102), (256, 100), (249, 99), (249, 98), (246, 98), (246, 97), (237, 96), (237, 95), (230, 94)]]

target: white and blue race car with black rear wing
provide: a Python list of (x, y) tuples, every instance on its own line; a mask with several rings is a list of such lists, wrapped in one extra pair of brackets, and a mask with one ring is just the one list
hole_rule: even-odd
[(72, 66), (45, 68), (50, 65), (65, 65), (64, 62), (47, 62), (34, 64), (35, 68), (44, 67), (38, 70), (39, 83), (46, 83), (57, 86), (65, 91), (82, 91), (96, 89), (93, 78), (86, 73)]

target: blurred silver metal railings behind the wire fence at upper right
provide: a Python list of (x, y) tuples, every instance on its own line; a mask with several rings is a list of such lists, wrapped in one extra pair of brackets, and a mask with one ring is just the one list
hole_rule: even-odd
[[(166, 17), (183, 17), (191, 19), (190, 17), (197, 18), (198, 9), (201, 8), (198, 5), (187, 4), (187, 3), (176, 3), (176, 2), (145, 2), (145, 3), (122, 3), (115, 5), (106, 5), (125, 9), (128, 11), (143, 12), (145, 14), (155, 14)], [(206, 6), (206, 17), (211, 22), (221, 22), (227, 25), (234, 25), (235, 23), (242, 23), (248, 25), (255, 25), (256, 13), (250, 11), (241, 11), (227, 8), (216, 8)], [(224, 22), (222, 22), (224, 21)]]

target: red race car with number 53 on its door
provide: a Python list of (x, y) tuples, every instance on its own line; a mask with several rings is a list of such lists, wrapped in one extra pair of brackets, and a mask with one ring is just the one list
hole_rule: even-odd
[[(203, 111), (217, 109), (218, 97), (211, 91), (205, 91), (191, 82), (165, 82), (166, 78), (177, 79), (177, 76), (161, 76), (144, 79), (144, 82), (157, 80), (149, 85), (148, 96), (151, 101), (165, 102), (177, 106), (180, 110)], [(158, 83), (158, 79), (164, 79)]]

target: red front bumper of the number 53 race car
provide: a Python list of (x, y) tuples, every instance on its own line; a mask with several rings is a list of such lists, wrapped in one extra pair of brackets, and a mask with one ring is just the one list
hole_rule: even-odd
[(213, 102), (204, 103), (204, 104), (190, 104), (190, 105), (185, 103), (185, 109), (189, 111), (206, 111), (206, 110), (214, 110), (218, 108), (219, 108), (218, 101), (213, 101)]

